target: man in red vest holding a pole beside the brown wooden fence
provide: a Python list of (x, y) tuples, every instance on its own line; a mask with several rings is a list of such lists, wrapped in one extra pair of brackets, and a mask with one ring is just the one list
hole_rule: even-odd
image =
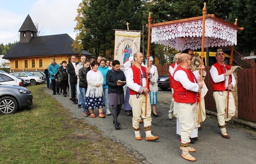
[[(228, 118), (226, 114), (227, 110), (227, 95), (228, 90), (233, 91), (234, 86), (236, 85), (236, 80), (230, 70), (229, 66), (224, 64), (225, 55), (224, 52), (218, 51), (216, 53), (217, 63), (212, 65), (210, 69), (212, 77), (212, 89), (213, 89), (213, 98), (216, 103), (217, 108), (217, 117), (219, 122), (219, 128), (221, 129), (223, 138), (230, 138), (226, 130), (226, 122), (229, 121), (236, 111), (236, 106), (234, 103), (234, 97), (232, 92), (229, 92), (229, 101), (228, 101)], [(228, 78), (231, 75), (231, 83), (228, 85)]]

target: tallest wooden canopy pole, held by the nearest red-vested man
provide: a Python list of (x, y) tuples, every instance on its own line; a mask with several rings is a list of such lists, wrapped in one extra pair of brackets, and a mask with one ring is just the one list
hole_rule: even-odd
[[(205, 15), (206, 15), (206, 3), (204, 2), (203, 7), (203, 29), (202, 29), (202, 50), (201, 50), (201, 66), (203, 65), (203, 58), (204, 58), (204, 26), (205, 26)], [(200, 69), (200, 82), (203, 80), (203, 69)], [(200, 119), (201, 119), (201, 97), (202, 97), (202, 88), (200, 88), (199, 93), (199, 108), (198, 108), (198, 125), (200, 125)]]

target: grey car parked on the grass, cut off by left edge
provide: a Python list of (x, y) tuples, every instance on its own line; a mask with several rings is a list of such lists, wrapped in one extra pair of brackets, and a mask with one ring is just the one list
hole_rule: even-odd
[(0, 84), (0, 114), (13, 114), (33, 104), (30, 90), (22, 86)]

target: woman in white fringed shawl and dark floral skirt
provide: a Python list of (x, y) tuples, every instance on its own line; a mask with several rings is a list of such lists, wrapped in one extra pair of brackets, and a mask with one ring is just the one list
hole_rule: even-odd
[(85, 108), (91, 110), (91, 117), (95, 117), (94, 108), (99, 109), (99, 117), (104, 118), (104, 114), (102, 113), (102, 99), (103, 99), (103, 76), (101, 72), (98, 70), (99, 63), (96, 61), (91, 62), (92, 69), (87, 73), (87, 91), (86, 91), (86, 99), (85, 99)]

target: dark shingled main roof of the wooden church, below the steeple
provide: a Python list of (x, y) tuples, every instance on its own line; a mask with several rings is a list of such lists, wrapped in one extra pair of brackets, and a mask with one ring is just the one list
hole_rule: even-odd
[[(73, 43), (74, 39), (68, 34), (32, 37), (29, 43), (17, 43), (3, 58), (79, 55), (79, 53), (73, 51), (73, 47), (71, 46)], [(87, 51), (82, 51), (82, 53), (83, 55), (92, 56)]]

